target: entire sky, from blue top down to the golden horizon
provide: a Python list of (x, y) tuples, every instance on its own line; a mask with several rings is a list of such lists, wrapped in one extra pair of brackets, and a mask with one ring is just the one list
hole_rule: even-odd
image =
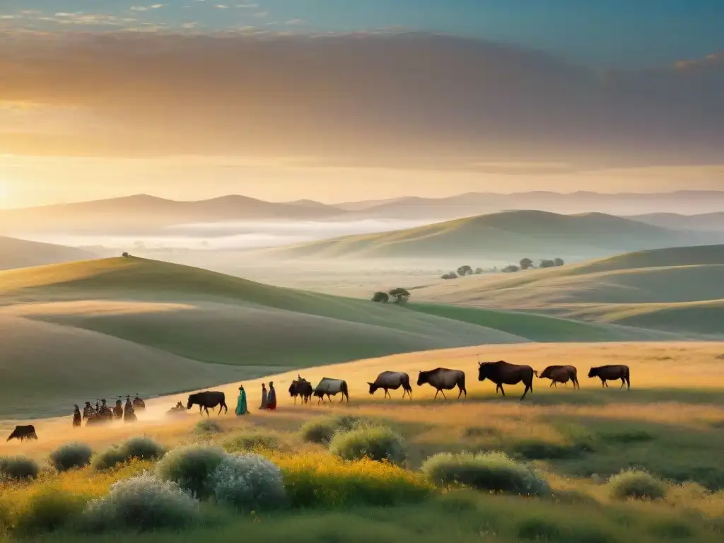
[(0, 207), (724, 180), (720, 0), (2, 0)]

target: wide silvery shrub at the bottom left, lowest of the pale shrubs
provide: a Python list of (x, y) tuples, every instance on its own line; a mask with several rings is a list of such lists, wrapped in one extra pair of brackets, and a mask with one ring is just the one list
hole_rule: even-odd
[(149, 473), (118, 481), (83, 512), (89, 531), (183, 529), (198, 520), (198, 502), (171, 481)]

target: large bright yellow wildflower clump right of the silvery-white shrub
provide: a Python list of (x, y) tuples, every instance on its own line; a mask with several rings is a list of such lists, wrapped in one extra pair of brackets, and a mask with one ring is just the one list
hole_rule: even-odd
[(358, 505), (397, 505), (429, 497), (432, 484), (388, 462), (342, 460), (333, 455), (305, 452), (271, 456), (284, 475), (294, 508), (349, 508)]

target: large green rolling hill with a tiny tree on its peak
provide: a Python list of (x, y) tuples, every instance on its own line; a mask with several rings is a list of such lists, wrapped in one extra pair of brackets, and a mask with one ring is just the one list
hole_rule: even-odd
[(547, 316), (411, 310), (141, 258), (0, 272), (0, 295), (2, 327), (13, 331), (0, 337), (0, 418), (393, 353), (683, 338)]

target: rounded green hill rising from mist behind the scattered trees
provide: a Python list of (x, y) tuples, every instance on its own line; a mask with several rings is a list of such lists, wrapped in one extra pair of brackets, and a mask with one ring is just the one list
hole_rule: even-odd
[(266, 251), (280, 258), (529, 258), (603, 256), (620, 251), (704, 243), (605, 214), (508, 211), (395, 232), (353, 235)]

